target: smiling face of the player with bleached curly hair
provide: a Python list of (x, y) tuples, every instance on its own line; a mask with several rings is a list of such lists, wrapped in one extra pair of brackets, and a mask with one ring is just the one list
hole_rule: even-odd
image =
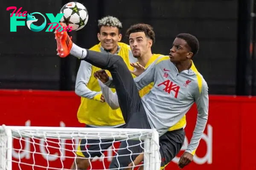
[(98, 40), (102, 47), (109, 52), (116, 52), (117, 42), (121, 41), (122, 34), (119, 34), (117, 27), (102, 26), (98, 33)]

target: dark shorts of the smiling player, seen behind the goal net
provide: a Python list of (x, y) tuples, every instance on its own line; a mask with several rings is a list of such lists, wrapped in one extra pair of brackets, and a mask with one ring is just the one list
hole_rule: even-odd
[[(86, 127), (97, 128), (89, 125)], [(116, 128), (123, 128), (123, 125)], [(106, 150), (108, 150), (109, 147), (112, 146), (112, 144), (113, 140), (107, 139), (81, 139), (76, 151), (76, 155), (85, 158), (94, 158), (95, 156), (100, 157)]]

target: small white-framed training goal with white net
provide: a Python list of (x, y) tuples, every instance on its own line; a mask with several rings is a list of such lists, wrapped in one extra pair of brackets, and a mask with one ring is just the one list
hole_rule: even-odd
[[(99, 141), (96, 144), (99, 145), (101, 157), (96, 161), (96, 158), (89, 157), (92, 160), (90, 170), (114, 170), (109, 169), (109, 163), (118, 156), (120, 149), (129, 150), (131, 169), (137, 170), (143, 166), (144, 170), (160, 170), (159, 135), (156, 130), (5, 125), (0, 126), (0, 170), (70, 170), (77, 157), (76, 151), (81, 139)], [(108, 149), (100, 147), (105, 139), (111, 142)], [(128, 144), (128, 141), (135, 140), (138, 141), (135, 142), (137, 147), (140, 147), (141, 153), (144, 154), (143, 161), (138, 165), (134, 165), (132, 161), (132, 157), (138, 155), (131, 150), (134, 145), (119, 148), (120, 142)], [(121, 156), (116, 159), (119, 157)]]

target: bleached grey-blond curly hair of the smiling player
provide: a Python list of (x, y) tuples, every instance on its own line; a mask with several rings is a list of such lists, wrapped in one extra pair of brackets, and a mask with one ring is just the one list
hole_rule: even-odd
[(117, 27), (119, 31), (122, 29), (122, 23), (116, 17), (112, 16), (106, 16), (98, 20), (99, 31), (102, 26)]

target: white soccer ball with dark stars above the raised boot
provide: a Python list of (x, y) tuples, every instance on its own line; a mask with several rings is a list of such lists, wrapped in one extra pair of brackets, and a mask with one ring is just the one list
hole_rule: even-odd
[(74, 31), (84, 28), (88, 22), (88, 11), (83, 4), (78, 2), (65, 4), (60, 13), (64, 14), (60, 22), (72, 27)]

